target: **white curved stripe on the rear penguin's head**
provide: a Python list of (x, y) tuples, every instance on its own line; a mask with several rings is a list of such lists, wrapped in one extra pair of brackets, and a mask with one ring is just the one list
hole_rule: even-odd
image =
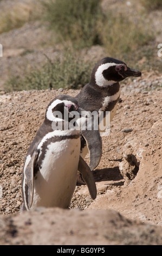
[(125, 66), (125, 69), (127, 69), (125, 64), (116, 64), (116, 63), (105, 63), (99, 66), (99, 68), (95, 72), (95, 82), (100, 87), (106, 87), (111, 86), (113, 83), (116, 83), (115, 81), (108, 81), (103, 77), (103, 70), (108, 69), (110, 66), (116, 66), (116, 71), (120, 71), (121, 66)]

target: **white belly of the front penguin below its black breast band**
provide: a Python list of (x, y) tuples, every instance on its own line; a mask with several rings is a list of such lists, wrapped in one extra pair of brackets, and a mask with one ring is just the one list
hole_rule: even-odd
[(76, 186), (80, 156), (80, 137), (50, 143), (40, 171), (34, 179), (34, 200), (31, 207), (67, 208)]

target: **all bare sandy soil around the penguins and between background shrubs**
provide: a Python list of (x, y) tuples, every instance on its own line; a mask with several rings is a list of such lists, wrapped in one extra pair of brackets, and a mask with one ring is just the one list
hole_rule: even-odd
[[(11, 7), (11, 2), (1, 1), (1, 7)], [(109, 1), (112, 8), (116, 8), (117, 2)], [(137, 1), (121, 2), (122, 8), (132, 6), (134, 12), (134, 5), (127, 3)], [(105, 8), (106, 3), (104, 0)], [(159, 29), (161, 12), (149, 15), (154, 29)], [(160, 32), (155, 47), (161, 38)], [(69, 210), (37, 209), (20, 214), (24, 159), (43, 122), (46, 107), (59, 94), (75, 96), (79, 91), (5, 93), (4, 82), (9, 76), (23, 75), (40, 66), (46, 61), (44, 53), (51, 58), (58, 56), (62, 48), (51, 42), (51, 34), (39, 22), (26, 23), (0, 35), (4, 53), (0, 66), (0, 244), (161, 245), (162, 76), (153, 70), (141, 70), (142, 77), (128, 78), (122, 83), (111, 132), (102, 137), (102, 158), (93, 171), (96, 199), (92, 200), (87, 186), (81, 185), (76, 186)], [(100, 59), (104, 54), (102, 47), (94, 46), (85, 55)], [(146, 60), (142, 58), (143, 61)], [(161, 58), (157, 57), (157, 61)]]

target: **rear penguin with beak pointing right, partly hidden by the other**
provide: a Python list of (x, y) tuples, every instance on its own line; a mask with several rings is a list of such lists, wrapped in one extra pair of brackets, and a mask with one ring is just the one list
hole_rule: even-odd
[[(141, 72), (128, 68), (121, 60), (103, 58), (95, 65), (90, 82), (75, 96), (75, 99), (86, 111), (105, 113), (109, 111), (110, 121), (112, 121), (120, 97), (119, 82), (129, 76), (141, 76)], [(91, 170), (98, 166), (102, 154), (101, 137), (96, 133), (96, 138), (93, 132), (82, 131), (84, 137), (81, 136), (81, 156), (84, 158), (89, 150)]]

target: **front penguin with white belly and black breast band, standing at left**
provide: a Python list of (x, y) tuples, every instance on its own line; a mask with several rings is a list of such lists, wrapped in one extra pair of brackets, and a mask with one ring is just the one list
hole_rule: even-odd
[(77, 100), (68, 95), (57, 96), (49, 103), (44, 123), (37, 131), (24, 163), (23, 210), (37, 206), (68, 208), (76, 186), (77, 170), (86, 181), (90, 196), (95, 199), (92, 172), (80, 156), (80, 130), (74, 126), (67, 130), (67, 124), (74, 118), (72, 113), (81, 116), (82, 110)]

